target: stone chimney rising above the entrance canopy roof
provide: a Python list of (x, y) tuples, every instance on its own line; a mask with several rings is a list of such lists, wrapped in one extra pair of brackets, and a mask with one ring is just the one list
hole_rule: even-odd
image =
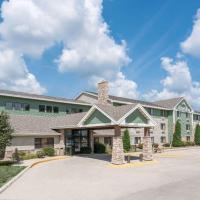
[(98, 103), (108, 104), (108, 82), (102, 81), (98, 83)]

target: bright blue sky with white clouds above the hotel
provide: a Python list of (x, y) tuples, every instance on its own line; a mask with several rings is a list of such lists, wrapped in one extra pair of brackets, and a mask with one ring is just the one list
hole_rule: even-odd
[(107, 79), (112, 94), (200, 108), (200, 1), (45, 1), (3, 2), (1, 88), (73, 98)]

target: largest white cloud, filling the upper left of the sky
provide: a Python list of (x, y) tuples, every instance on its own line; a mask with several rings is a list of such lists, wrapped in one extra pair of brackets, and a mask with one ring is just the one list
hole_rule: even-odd
[[(17, 54), (41, 57), (55, 43), (61, 73), (117, 80), (131, 62), (125, 41), (117, 43), (102, 17), (102, 0), (10, 0), (2, 5), (2, 43)], [(124, 78), (125, 80), (125, 78)]]

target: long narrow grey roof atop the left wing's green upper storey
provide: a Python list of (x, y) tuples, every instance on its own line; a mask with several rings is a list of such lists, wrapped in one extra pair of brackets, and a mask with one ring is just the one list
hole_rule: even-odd
[(10, 90), (0, 90), (0, 96), (18, 97), (18, 98), (35, 99), (35, 100), (44, 100), (44, 101), (59, 102), (59, 103), (90, 105), (89, 103), (86, 103), (86, 102), (83, 102), (83, 101), (78, 101), (78, 100), (73, 100), (73, 99), (66, 99), (66, 98), (63, 98), (63, 97), (45, 96), (45, 95), (38, 95), (38, 94), (17, 92), (17, 91), (10, 91)]

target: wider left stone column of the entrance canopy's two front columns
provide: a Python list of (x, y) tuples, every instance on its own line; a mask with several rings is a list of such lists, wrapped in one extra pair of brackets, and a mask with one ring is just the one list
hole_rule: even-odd
[(121, 165), (124, 164), (124, 149), (121, 135), (121, 128), (116, 126), (115, 135), (113, 137), (113, 145), (112, 145), (112, 164)]

